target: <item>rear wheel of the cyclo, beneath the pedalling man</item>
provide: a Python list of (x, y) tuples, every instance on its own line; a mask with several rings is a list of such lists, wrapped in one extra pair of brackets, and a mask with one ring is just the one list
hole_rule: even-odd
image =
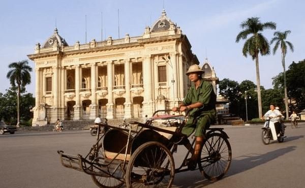
[(232, 159), (231, 145), (220, 133), (207, 135), (201, 150), (198, 167), (209, 180), (221, 179), (229, 170)]

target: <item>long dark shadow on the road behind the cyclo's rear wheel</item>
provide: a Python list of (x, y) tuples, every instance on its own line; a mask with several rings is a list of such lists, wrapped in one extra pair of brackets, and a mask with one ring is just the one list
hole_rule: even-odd
[[(300, 138), (301, 136), (298, 136)], [(294, 139), (298, 139), (294, 138)], [(284, 155), (288, 152), (291, 152), (295, 150), (296, 146), (289, 146), (285, 148), (280, 148), (277, 150), (269, 151), (265, 154), (256, 154), (256, 153), (251, 153), (249, 155), (241, 155), (238, 156), (238, 158), (242, 158), (240, 160), (238, 159), (233, 159), (230, 169), (229, 169), (229, 176), (238, 174), (244, 171), (247, 171), (249, 169), (252, 169), (254, 167), (257, 167), (259, 165), (265, 164), (269, 161), (272, 161), (276, 158), (278, 158), (281, 155)]]

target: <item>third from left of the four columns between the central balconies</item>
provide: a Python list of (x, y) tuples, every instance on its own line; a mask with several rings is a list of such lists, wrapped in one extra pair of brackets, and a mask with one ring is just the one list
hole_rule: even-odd
[(108, 103), (107, 106), (107, 119), (113, 119), (114, 105), (113, 105), (113, 62), (107, 62), (107, 76), (108, 76)]

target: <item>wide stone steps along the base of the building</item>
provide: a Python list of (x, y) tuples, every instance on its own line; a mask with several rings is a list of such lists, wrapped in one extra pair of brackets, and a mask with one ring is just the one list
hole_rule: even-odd
[[(143, 118), (130, 118), (126, 119), (129, 121), (143, 122)], [(65, 130), (89, 130), (90, 126), (94, 125), (94, 120), (64, 120), (64, 131)], [(111, 126), (118, 126), (123, 123), (123, 119), (108, 119), (108, 124)], [(18, 131), (53, 131), (54, 123), (47, 124), (45, 126), (36, 127), (20, 127)]]

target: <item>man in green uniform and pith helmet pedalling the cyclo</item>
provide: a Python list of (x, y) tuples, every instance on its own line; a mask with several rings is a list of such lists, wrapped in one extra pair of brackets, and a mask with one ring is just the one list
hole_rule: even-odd
[[(189, 169), (196, 168), (206, 129), (210, 127), (216, 117), (216, 94), (212, 84), (202, 79), (203, 73), (204, 71), (198, 65), (190, 66), (186, 74), (193, 82), (192, 86), (184, 101), (178, 107), (172, 108), (174, 112), (190, 110), (188, 121), (182, 129), (182, 134), (188, 137), (195, 131), (195, 149), (186, 164)], [(191, 148), (190, 144), (186, 147)]]

